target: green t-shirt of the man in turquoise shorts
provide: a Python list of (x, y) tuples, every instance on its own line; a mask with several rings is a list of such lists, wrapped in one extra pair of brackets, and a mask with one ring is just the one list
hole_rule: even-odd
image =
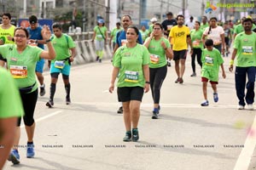
[(73, 42), (72, 37), (68, 36), (67, 34), (62, 34), (61, 37), (53, 37), (52, 45), (55, 48), (55, 59), (51, 60), (51, 63), (54, 63), (55, 60), (65, 60), (65, 64), (68, 64), (67, 58), (70, 57), (70, 48), (75, 48), (75, 43)]

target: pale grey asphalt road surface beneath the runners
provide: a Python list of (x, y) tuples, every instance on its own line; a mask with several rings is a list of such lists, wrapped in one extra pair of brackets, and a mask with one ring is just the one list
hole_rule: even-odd
[(151, 92), (144, 94), (137, 143), (122, 141), (125, 126), (123, 116), (116, 113), (117, 94), (116, 91), (108, 93), (112, 72), (109, 60), (73, 66), (72, 105), (65, 105), (65, 89), (60, 77), (52, 109), (45, 106), (50, 77), (48, 71), (44, 72), (47, 92), (38, 98), (35, 113), (36, 156), (26, 158), (26, 133), (22, 127), (20, 164), (14, 166), (7, 162), (4, 169), (254, 169), (256, 112), (236, 109), (234, 73), (228, 71), (229, 59), (224, 58), (227, 78), (220, 77), (218, 103), (212, 99), (209, 84), (210, 105), (201, 107), (199, 65), (196, 65), (197, 77), (190, 77), (189, 58), (183, 84), (174, 83), (177, 78), (174, 63), (168, 67), (159, 119), (151, 119)]

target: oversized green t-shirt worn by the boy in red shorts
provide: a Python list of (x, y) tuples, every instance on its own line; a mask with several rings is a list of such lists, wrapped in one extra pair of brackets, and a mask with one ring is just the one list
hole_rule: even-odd
[(207, 48), (203, 49), (201, 63), (201, 77), (206, 77), (212, 82), (218, 82), (219, 65), (224, 63), (218, 49), (212, 48), (212, 51), (208, 51)]

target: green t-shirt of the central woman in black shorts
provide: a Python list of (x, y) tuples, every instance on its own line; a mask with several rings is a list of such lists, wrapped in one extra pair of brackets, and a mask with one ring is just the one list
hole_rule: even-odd
[(145, 78), (143, 65), (149, 64), (148, 49), (137, 43), (134, 48), (126, 45), (119, 47), (113, 57), (113, 66), (119, 67), (119, 81), (121, 87), (144, 87)]

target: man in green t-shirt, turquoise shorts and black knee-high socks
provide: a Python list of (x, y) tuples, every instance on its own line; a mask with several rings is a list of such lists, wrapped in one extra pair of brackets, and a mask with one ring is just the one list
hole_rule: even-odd
[[(70, 82), (69, 74), (71, 62), (76, 55), (76, 48), (72, 37), (62, 33), (62, 27), (59, 23), (52, 25), (54, 36), (51, 37), (53, 47), (55, 48), (56, 57), (49, 62), (50, 65), (50, 92), (49, 101), (46, 103), (47, 106), (52, 107), (54, 105), (54, 96), (56, 90), (56, 83), (58, 81), (59, 74), (62, 74), (66, 90), (66, 105), (70, 105)], [(71, 54), (70, 54), (71, 51)]]

